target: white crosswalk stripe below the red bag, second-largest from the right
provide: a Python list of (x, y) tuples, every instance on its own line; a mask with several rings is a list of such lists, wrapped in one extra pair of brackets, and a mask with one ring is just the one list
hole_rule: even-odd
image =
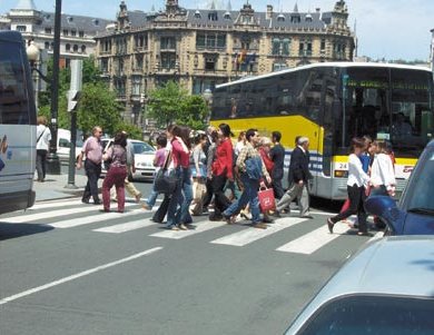
[(264, 238), (268, 235), (275, 234), (282, 229), (295, 226), (299, 223), (305, 221), (304, 218), (279, 218), (274, 221), (274, 224), (270, 224), (267, 229), (258, 229), (258, 228), (247, 228), (241, 231), (237, 231), (227, 236), (224, 236), (221, 238), (217, 238), (215, 240), (211, 240), (213, 244), (224, 244), (224, 245), (230, 245), (230, 246), (238, 246), (243, 247), (245, 245), (248, 245), (255, 240), (258, 240), (260, 238)]

